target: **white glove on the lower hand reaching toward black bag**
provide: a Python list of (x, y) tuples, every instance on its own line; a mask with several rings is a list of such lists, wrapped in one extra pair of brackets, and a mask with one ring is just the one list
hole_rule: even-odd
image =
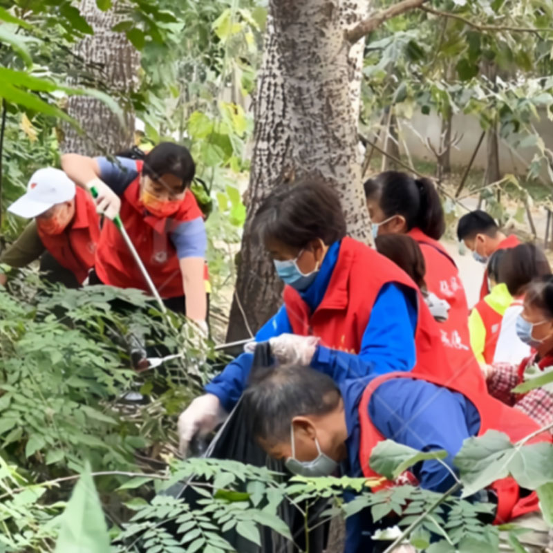
[(178, 450), (182, 457), (187, 456), (188, 446), (194, 436), (203, 436), (223, 422), (227, 412), (216, 395), (200, 395), (189, 404), (178, 418)]

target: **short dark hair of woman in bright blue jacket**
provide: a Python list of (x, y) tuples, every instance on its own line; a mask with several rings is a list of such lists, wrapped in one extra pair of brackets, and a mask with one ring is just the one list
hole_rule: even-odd
[(257, 210), (252, 233), (263, 243), (272, 239), (301, 248), (321, 238), (330, 245), (346, 236), (346, 219), (337, 194), (324, 183), (281, 183)]

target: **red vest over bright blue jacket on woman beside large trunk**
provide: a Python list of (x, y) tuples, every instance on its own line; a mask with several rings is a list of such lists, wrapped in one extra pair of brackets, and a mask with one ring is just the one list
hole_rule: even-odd
[(285, 286), (283, 299), (292, 331), (300, 336), (317, 336), (328, 348), (359, 353), (377, 294), (390, 282), (405, 285), (418, 294), (417, 362), (412, 372), (462, 379), (471, 386), (485, 389), (476, 359), (473, 365), (453, 370), (440, 339), (438, 323), (424, 303), (418, 286), (393, 261), (353, 238), (341, 241), (330, 283), (315, 312), (310, 312), (297, 290)]

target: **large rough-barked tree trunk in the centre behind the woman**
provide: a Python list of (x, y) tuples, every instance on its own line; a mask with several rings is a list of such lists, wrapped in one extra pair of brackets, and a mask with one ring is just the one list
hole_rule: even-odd
[(250, 234), (256, 210), (274, 187), (302, 178), (326, 182), (339, 194), (349, 234), (370, 239), (357, 141), (363, 44), (351, 48), (344, 37), (368, 8), (365, 0), (341, 6), (328, 0), (270, 1), (228, 340), (247, 335), (244, 316), (255, 332), (281, 303), (273, 265)]

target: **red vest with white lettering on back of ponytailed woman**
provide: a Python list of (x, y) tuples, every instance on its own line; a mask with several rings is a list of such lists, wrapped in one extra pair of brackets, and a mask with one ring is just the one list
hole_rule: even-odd
[(418, 243), (424, 256), (427, 265), (424, 280), (429, 292), (444, 299), (450, 306), (447, 321), (438, 323), (449, 363), (453, 369), (460, 371), (480, 371), (470, 345), (469, 307), (455, 261), (442, 244), (420, 229), (411, 229), (407, 234)]

